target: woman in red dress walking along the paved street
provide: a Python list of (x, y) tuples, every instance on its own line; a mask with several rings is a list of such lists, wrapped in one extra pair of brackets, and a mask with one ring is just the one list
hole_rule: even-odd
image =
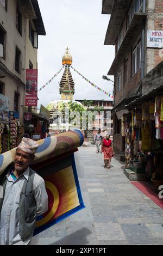
[(114, 156), (114, 150), (112, 148), (112, 141), (110, 135), (106, 135), (106, 139), (102, 142), (101, 153), (104, 153), (104, 168), (110, 168), (111, 158)]

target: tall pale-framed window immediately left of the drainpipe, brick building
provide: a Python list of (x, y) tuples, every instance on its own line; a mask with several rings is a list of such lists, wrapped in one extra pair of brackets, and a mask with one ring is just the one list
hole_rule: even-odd
[(141, 67), (141, 42), (136, 46), (132, 54), (132, 76), (140, 69)]

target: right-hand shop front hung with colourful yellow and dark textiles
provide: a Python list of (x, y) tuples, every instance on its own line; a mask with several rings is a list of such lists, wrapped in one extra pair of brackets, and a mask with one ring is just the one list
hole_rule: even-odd
[(122, 117), (126, 169), (158, 188), (163, 184), (163, 85), (127, 107), (129, 114)]

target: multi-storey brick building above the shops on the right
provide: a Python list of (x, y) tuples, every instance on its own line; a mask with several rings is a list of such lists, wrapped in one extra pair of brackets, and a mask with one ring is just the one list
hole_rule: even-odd
[(115, 58), (108, 75), (115, 76), (114, 150), (122, 154), (125, 150), (122, 115), (128, 112), (131, 101), (141, 97), (143, 91), (150, 90), (145, 81), (147, 77), (152, 78), (148, 74), (162, 61), (163, 2), (103, 0), (102, 14), (111, 15), (104, 44), (115, 45)]

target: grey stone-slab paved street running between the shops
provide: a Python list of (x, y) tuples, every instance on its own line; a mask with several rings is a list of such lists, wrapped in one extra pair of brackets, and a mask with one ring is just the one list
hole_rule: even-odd
[(86, 208), (35, 236), (32, 245), (163, 245), (163, 210), (134, 187), (95, 147), (75, 154)]

